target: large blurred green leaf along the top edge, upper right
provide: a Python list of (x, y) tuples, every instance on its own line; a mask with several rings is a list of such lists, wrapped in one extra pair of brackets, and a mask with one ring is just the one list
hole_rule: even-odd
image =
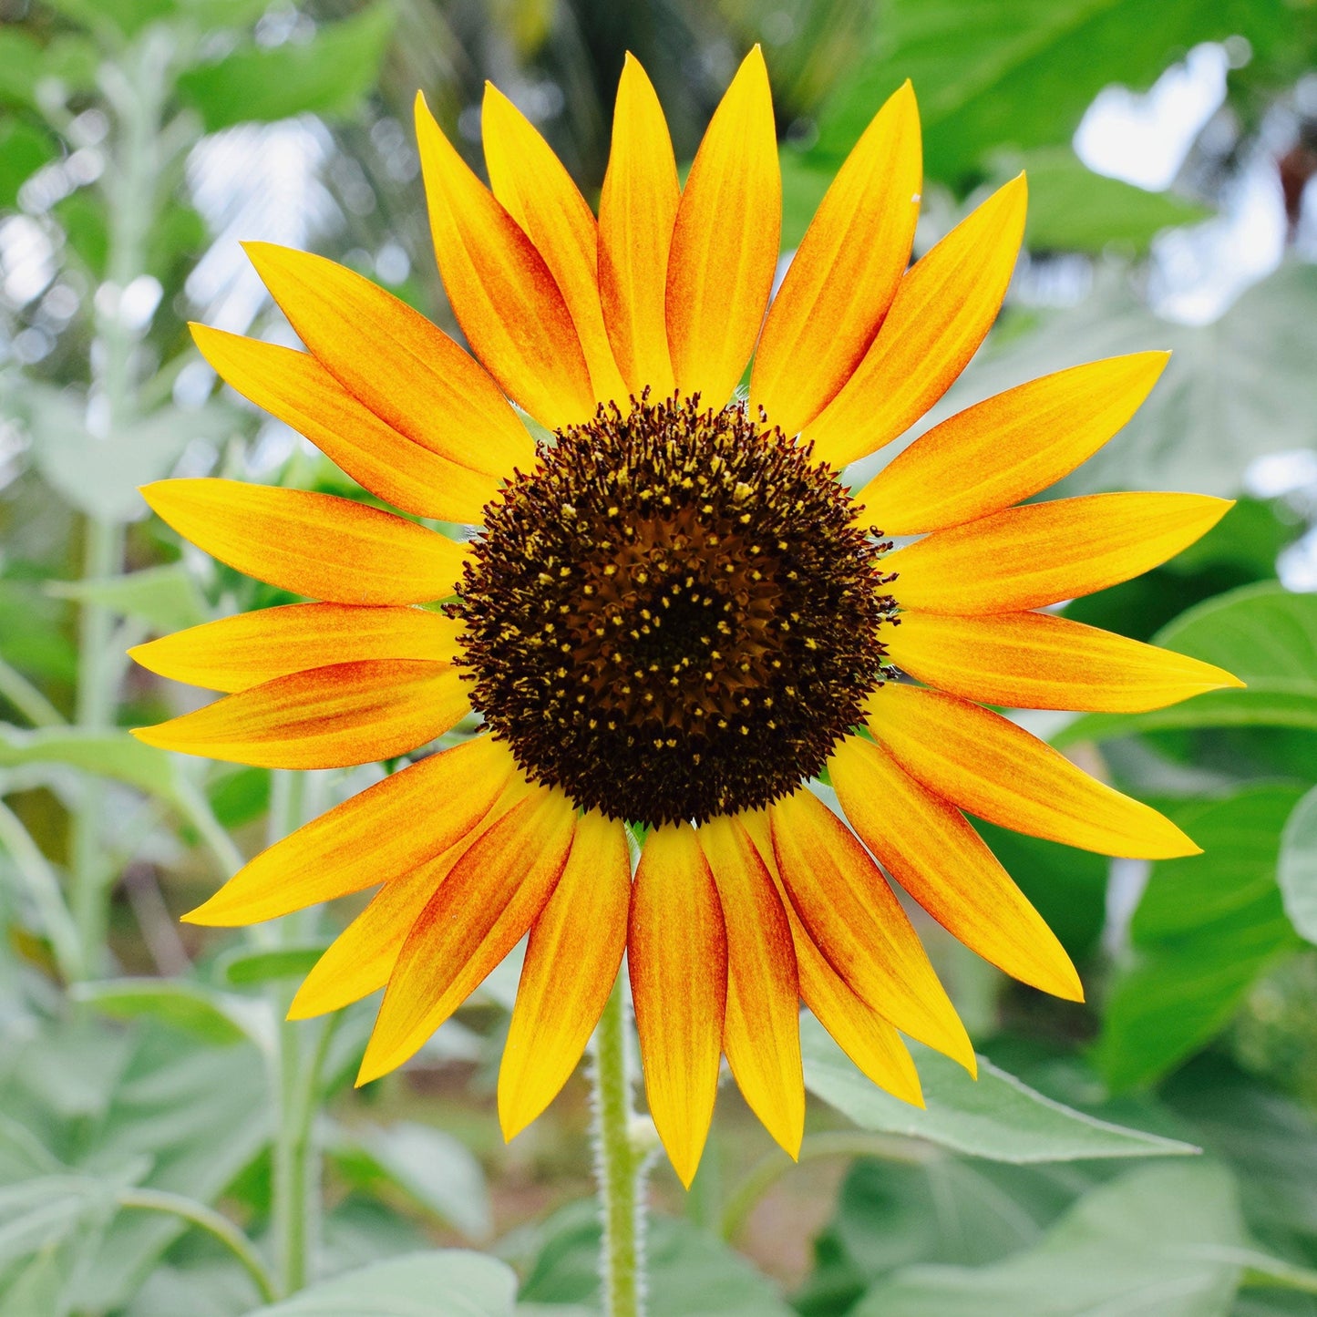
[(1002, 146), (1069, 141), (1109, 83), (1147, 87), (1200, 41), (1272, 46), (1291, 22), (1271, 0), (886, 0), (874, 7), (872, 57), (820, 115), (817, 153), (847, 150), (910, 78), (925, 170), (960, 184)]

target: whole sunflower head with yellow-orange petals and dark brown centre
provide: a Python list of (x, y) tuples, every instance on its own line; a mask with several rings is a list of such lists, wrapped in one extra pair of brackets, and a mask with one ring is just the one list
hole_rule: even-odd
[(856, 490), (839, 473), (918, 420), (996, 317), (1023, 176), (910, 265), (922, 184), (906, 84), (770, 302), (781, 180), (757, 49), (685, 187), (627, 59), (598, 219), (493, 87), (491, 188), (420, 97), (416, 130), (470, 354), (360, 275), (266, 244), (249, 255), (307, 352), (194, 328), (229, 385), (411, 518), (227, 479), (148, 486), (182, 536), (316, 602), (134, 649), (227, 693), (137, 735), (323, 769), (481, 722), (187, 918), (246, 925), (378, 886), (291, 1009), (385, 989), (362, 1083), (528, 934), (499, 1075), (508, 1138), (572, 1073), (626, 952), (649, 1109), (687, 1184), (723, 1055), (797, 1152), (802, 998), (873, 1083), (921, 1102), (901, 1034), (971, 1071), (975, 1055), (884, 871), (992, 964), (1077, 1000), (1065, 951), (965, 814), (1108, 855), (1197, 849), (985, 707), (1143, 710), (1238, 685), (1036, 611), (1147, 570), (1229, 507), (1022, 504), (1129, 420), (1166, 354), (989, 398)]

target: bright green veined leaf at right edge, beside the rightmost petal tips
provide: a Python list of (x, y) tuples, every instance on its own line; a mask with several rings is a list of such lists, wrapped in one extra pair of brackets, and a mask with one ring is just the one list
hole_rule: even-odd
[(1300, 727), (1317, 731), (1317, 594), (1276, 582), (1242, 586), (1181, 612), (1154, 641), (1247, 682), (1146, 714), (1087, 714), (1056, 745), (1169, 727)]

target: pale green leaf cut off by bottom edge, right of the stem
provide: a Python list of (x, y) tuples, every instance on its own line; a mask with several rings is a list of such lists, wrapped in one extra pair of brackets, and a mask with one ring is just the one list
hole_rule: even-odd
[(1089, 1192), (1033, 1249), (986, 1267), (910, 1267), (855, 1317), (1227, 1317), (1247, 1235), (1210, 1163), (1133, 1171)]

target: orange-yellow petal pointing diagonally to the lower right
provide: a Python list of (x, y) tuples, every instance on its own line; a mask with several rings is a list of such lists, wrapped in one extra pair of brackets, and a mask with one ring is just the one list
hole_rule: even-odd
[(834, 751), (828, 772), (864, 844), (934, 919), (1008, 975), (1084, 1000), (1065, 948), (959, 810), (856, 736)]

